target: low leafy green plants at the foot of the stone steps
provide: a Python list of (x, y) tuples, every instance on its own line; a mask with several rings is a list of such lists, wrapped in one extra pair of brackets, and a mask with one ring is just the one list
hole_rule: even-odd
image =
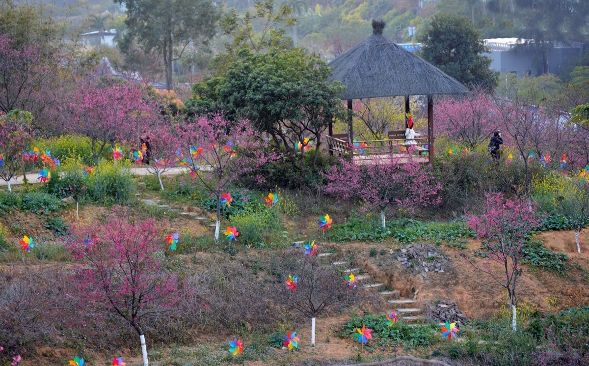
[(439, 337), (437, 325), (413, 325), (397, 322), (392, 327), (386, 325), (385, 315), (352, 316), (337, 332), (338, 337), (350, 338), (358, 334), (356, 328), (372, 329), (373, 340), (368, 344), (372, 347), (388, 347), (403, 345), (403, 348), (416, 348), (431, 345)]

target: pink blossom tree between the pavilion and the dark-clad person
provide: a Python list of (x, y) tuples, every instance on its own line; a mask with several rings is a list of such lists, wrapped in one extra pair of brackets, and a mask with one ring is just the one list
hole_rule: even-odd
[(481, 91), (463, 98), (443, 98), (436, 111), (440, 132), (470, 148), (488, 140), (498, 127), (494, 101)]

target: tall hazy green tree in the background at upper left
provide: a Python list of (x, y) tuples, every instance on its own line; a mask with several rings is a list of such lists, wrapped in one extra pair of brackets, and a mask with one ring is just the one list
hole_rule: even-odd
[(207, 44), (215, 34), (219, 11), (206, 0), (116, 0), (127, 8), (127, 35), (122, 50), (135, 40), (145, 52), (163, 56), (166, 88), (173, 89), (173, 62), (190, 42)]

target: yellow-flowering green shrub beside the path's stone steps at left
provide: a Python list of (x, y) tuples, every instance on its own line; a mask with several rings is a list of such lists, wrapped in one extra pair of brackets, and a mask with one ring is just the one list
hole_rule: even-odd
[(117, 165), (112, 161), (101, 161), (94, 174), (88, 176), (87, 187), (87, 196), (103, 205), (127, 204), (134, 192), (131, 172), (124, 161)]

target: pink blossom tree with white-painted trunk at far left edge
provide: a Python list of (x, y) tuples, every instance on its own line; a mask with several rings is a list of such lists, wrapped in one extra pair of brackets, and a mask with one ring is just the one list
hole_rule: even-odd
[(32, 119), (27, 111), (0, 111), (0, 177), (8, 184), (8, 192), (12, 192), (10, 180), (18, 176), (22, 154), (34, 136)]

